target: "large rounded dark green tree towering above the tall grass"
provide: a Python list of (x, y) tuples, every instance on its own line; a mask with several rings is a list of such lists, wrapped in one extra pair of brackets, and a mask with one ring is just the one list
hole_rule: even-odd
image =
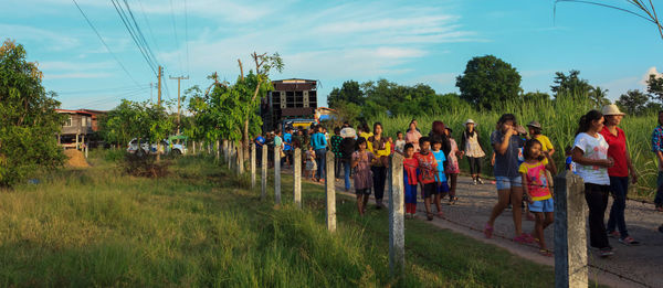
[(493, 55), (473, 57), (463, 75), (456, 77), (461, 98), (477, 108), (492, 109), (495, 103), (518, 98), (520, 74), (511, 64)]

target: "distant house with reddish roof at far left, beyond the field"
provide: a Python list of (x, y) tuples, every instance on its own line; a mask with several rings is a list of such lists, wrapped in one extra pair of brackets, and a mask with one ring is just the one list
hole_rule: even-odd
[(97, 137), (96, 131), (98, 130), (97, 117), (105, 111), (99, 110), (66, 110), (55, 109), (60, 114), (69, 116), (62, 125), (62, 129), (57, 135), (57, 143), (65, 149), (67, 148), (81, 148), (82, 143), (90, 143), (94, 141), (96, 143)]

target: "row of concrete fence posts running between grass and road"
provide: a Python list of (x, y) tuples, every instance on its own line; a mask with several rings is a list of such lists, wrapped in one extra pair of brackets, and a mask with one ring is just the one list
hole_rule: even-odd
[[(219, 146), (217, 146), (219, 148)], [(223, 140), (223, 156), (229, 169), (243, 173), (244, 159), (241, 146)], [(274, 150), (274, 201), (281, 204), (281, 149)], [(251, 145), (250, 151), (251, 188), (255, 189), (256, 178), (256, 148)], [(261, 200), (266, 200), (267, 193), (267, 146), (262, 146), (261, 152)], [(330, 233), (336, 232), (336, 188), (334, 153), (326, 153), (326, 223)], [(219, 157), (217, 157), (219, 158)], [(232, 167), (231, 164), (234, 164)], [(293, 163), (293, 199), (297, 207), (302, 209), (302, 151), (294, 150)], [(388, 169), (389, 193), (389, 267), (392, 276), (404, 273), (404, 183), (403, 157), (394, 153), (390, 156)], [(562, 171), (555, 177), (555, 286), (556, 287), (587, 287), (588, 257), (586, 239), (586, 210), (583, 200), (582, 179)]]

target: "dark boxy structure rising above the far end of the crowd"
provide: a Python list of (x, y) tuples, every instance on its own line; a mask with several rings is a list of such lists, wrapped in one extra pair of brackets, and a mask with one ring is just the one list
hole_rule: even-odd
[(262, 98), (260, 115), (263, 131), (281, 127), (285, 119), (314, 119), (317, 108), (317, 81), (281, 79), (273, 81), (274, 90)]

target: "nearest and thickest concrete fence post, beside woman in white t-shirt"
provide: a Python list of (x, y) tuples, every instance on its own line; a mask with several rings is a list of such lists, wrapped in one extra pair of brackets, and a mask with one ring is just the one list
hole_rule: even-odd
[(587, 287), (585, 184), (564, 171), (555, 177), (555, 287)]

